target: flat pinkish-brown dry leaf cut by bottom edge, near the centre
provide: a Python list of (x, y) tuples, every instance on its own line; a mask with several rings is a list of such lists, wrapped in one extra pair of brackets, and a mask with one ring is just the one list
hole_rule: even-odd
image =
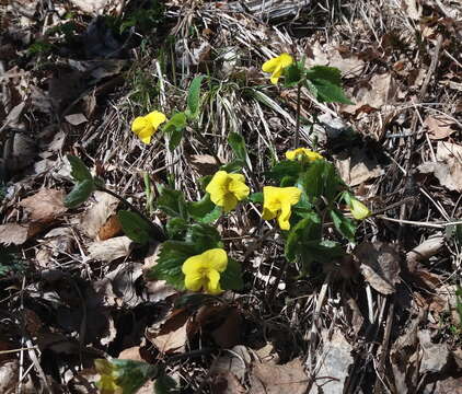
[(251, 374), (252, 394), (304, 394), (308, 375), (300, 359), (282, 366), (254, 363)]

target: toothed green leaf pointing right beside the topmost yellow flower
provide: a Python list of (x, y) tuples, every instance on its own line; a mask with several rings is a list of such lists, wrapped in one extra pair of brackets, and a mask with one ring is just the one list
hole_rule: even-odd
[(353, 104), (342, 89), (342, 77), (338, 69), (315, 66), (307, 71), (307, 88), (320, 102)]

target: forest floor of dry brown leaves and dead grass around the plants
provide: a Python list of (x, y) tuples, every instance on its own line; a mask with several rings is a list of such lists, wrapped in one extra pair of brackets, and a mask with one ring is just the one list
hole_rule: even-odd
[[(114, 393), (102, 359), (155, 367), (138, 393), (462, 393), (460, 1), (0, 0), (0, 18), (1, 393)], [(213, 222), (242, 289), (187, 298), (149, 278), (162, 240), (124, 235), (124, 202), (63, 204), (72, 154), (165, 228), (160, 185), (198, 200), (231, 134), (261, 192), (297, 125), (297, 88), (262, 71), (281, 53), (338, 68), (353, 102), (300, 95), (300, 146), (372, 212), (354, 242), (327, 229), (342, 258), (287, 264), (247, 201)], [(176, 149), (142, 143), (132, 120), (184, 109), (200, 74)]]

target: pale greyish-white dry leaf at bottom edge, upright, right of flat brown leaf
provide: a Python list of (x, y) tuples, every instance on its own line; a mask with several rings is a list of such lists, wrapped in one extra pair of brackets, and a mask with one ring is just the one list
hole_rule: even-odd
[(321, 368), (316, 372), (316, 384), (322, 386), (324, 393), (343, 394), (348, 368), (354, 361), (353, 347), (339, 331), (335, 331), (331, 338), (327, 331), (323, 331), (322, 337), (323, 355)]

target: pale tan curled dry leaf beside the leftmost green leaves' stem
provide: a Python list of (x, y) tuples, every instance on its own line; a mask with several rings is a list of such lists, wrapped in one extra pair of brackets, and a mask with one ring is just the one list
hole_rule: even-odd
[(96, 239), (101, 228), (115, 213), (119, 200), (104, 192), (95, 192), (93, 195), (96, 202), (83, 213), (80, 228), (88, 236)]

